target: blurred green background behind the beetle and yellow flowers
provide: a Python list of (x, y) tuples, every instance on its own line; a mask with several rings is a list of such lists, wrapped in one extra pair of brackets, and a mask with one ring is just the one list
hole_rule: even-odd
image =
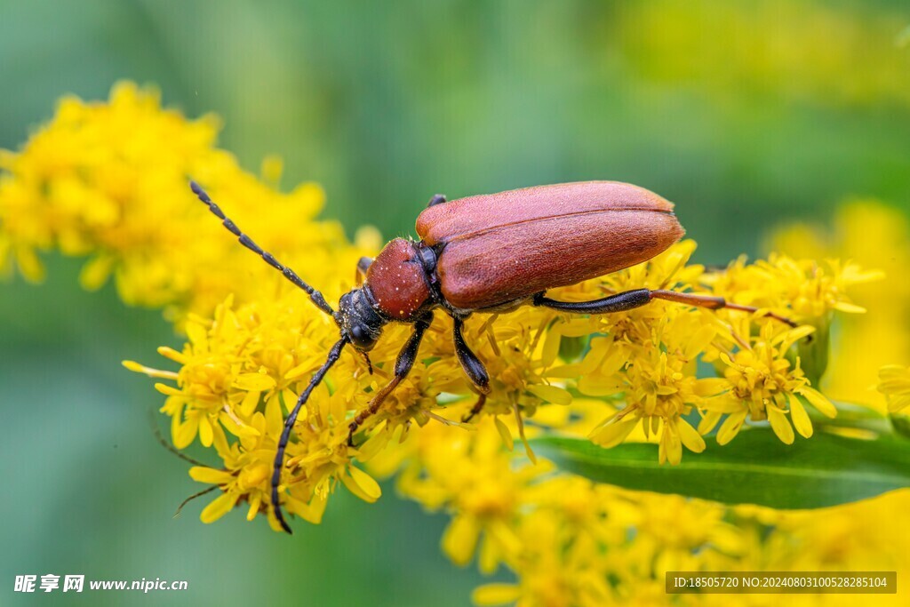
[[(321, 183), (349, 233), (412, 233), (436, 192), (616, 179), (676, 202), (697, 258), (723, 263), (844, 197), (910, 205), (908, 25), (897, 0), (0, 1), (0, 147), (127, 78), (222, 116), (248, 169), (284, 157), (283, 187)], [(341, 491), (292, 539), (240, 512), (203, 526), (199, 502), (172, 520), (198, 485), (119, 361), (180, 340), (82, 292), (76, 261), (49, 265), (43, 286), (0, 286), (0, 604), (64, 600), (15, 594), (24, 573), (189, 581), (66, 595), (92, 604), (469, 602), (480, 576), (440, 555), (444, 517), (388, 484), (374, 506)]]

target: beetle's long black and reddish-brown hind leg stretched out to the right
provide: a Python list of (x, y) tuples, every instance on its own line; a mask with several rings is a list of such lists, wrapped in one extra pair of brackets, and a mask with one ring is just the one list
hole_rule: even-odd
[[(666, 299), (676, 303), (688, 304), (699, 308), (707, 309), (738, 309), (743, 312), (757, 312), (758, 308), (754, 306), (743, 306), (727, 301), (724, 298), (718, 298), (711, 295), (698, 295), (696, 293), (680, 293), (679, 291), (669, 291), (662, 288), (651, 290), (649, 288), (636, 288), (631, 291), (623, 291), (607, 298), (592, 299), (591, 301), (557, 301), (556, 299), (546, 298), (542, 293), (534, 296), (534, 305), (543, 308), (559, 310), (561, 312), (578, 312), (581, 314), (609, 314), (611, 312), (624, 312), (628, 309), (639, 308), (652, 299)], [(791, 327), (798, 325), (791, 319), (787, 319), (773, 312), (764, 314), (770, 319), (779, 320)]]

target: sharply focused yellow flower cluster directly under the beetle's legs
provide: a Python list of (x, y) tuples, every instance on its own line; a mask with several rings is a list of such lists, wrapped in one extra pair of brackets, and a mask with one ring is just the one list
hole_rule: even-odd
[[(566, 289), (563, 295), (591, 298), (633, 285), (657, 286), (676, 284), (680, 277), (703, 278), (702, 268), (686, 266), (692, 251), (693, 243), (682, 243), (652, 262)], [(797, 267), (789, 258), (776, 258), (776, 263), (763, 266), (769, 285), (777, 285), (782, 278), (767, 268)], [(737, 276), (752, 268), (734, 264), (724, 273), (727, 297), (737, 300), (731, 285), (739, 282), (755, 287), (758, 278)], [(842, 274), (832, 284), (849, 281)], [(812, 278), (799, 273), (793, 279)], [(278, 291), (282, 278), (274, 273), (261, 280), (260, 287), (273, 292)], [(823, 315), (845, 305), (843, 294), (833, 288), (814, 292), (824, 303), (812, 308), (822, 310)], [(773, 303), (767, 309), (792, 309), (783, 298)], [(421, 346), (422, 358), (387, 405), (368, 421), (370, 438), (358, 449), (347, 444), (348, 421), (366, 407), (369, 393), (389, 379), (407, 329), (390, 330), (379, 341), (371, 353), (376, 368), (372, 375), (365, 362), (350, 351), (331, 369), (328, 385), (310, 397), (296, 427), (297, 440), (288, 446), (288, 465), (283, 470), (288, 511), (319, 520), (336, 481), (364, 499), (375, 500), (378, 487), (354, 467), (352, 460), (370, 460), (392, 439), (400, 441), (401, 433), (413, 424), (424, 426), (432, 421), (462, 439), (470, 436), (465, 430), (448, 428), (460, 419), (471, 399), (452, 352), (450, 321), (438, 316), (437, 326)], [(566, 387), (576, 386), (588, 397), (612, 397), (607, 401), (588, 400), (588, 406), (579, 410), (569, 407), (569, 414), (577, 420), (605, 418), (591, 430), (591, 440), (611, 447), (640, 428), (645, 440), (657, 438), (662, 461), (678, 463), (682, 446), (693, 451), (705, 448), (702, 435), (713, 430), (724, 415), (717, 435), (721, 444), (733, 439), (745, 420), (770, 421), (784, 442), (794, 440), (791, 419), (802, 435), (811, 436), (812, 424), (800, 397), (834, 416), (833, 405), (809, 386), (799, 359), (791, 363), (786, 358), (794, 342), (810, 335), (813, 328), (791, 329), (775, 319), (763, 318), (761, 312), (757, 317), (750, 319), (736, 310), (713, 314), (670, 302), (589, 319), (526, 308), (499, 321), (473, 319), (466, 338), (476, 346), (481, 359), (489, 362), (492, 391), (483, 417), (492, 420), (502, 444), (511, 447), (516, 433), (523, 438), (523, 425), (518, 423), (510, 429), (500, 416), (516, 422), (523, 418), (537, 421), (535, 413), (542, 405), (570, 405), (571, 392)], [(753, 330), (753, 324), (760, 329)], [(328, 317), (312, 309), (302, 293), (295, 292), (237, 305), (228, 298), (213, 319), (192, 316), (185, 329), (189, 341), (182, 352), (162, 350), (181, 365), (177, 374), (170, 375), (177, 387), (157, 386), (167, 395), (163, 410), (171, 417), (174, 443), (182, 449), (198, 437), (204, 446), (214, 445), (227, 473), (236, 479), (218, 482), (230, 495), (218, 503), (233, 505), (243, 499), (250, 503), (251, 514), (261, 511), (270, 517), (265, 497), (268, 463), (274, 456), (284, 414), (319, 368), (337, 339), (337, 329)], [(577, 362), (566, 364), (558, 356), (561, 339), (591, 334), (608, 337), (592, 339)], [(700, 358), (721, 365), (723, 377), (698, 378), (696, 364)], [(156, 377), (168, 375), (136, 363), (127, 365)], [(440, 399), (443, 394), (450, 397)], [(459, 398), (453, 401), (452, 396)], [(615, 408), (618, 404), (622, 404), (620, 410)], [(693, 410), (702, 415), (698, 430), (686, 420)], [(552, 423), (544, 419), (538, 425)], [(197, 470), (195, 476), (208, 481), (226, 478), (213, 470)], [(212, 518), (211, 512), (206, 511), (207, 520)]]

